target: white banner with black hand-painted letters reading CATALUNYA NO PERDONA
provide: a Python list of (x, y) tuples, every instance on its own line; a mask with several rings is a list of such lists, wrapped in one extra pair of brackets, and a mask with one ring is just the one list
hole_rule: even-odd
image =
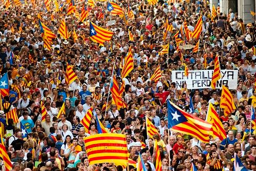
[[(184, 70), (172, 71), (172, 82), (176, 83), (178, 90), (184, 82), (188, 89), (211, 88), (211, 77), (214, 70), (189, 70), (188, 77), (184, 76)], [(221, 89), (222, 85), (228, 86), (229, 89), (236, 89), (238, 85), (238, 70), (221, 70), (222, 77), (217, 81), (217, 89)]]

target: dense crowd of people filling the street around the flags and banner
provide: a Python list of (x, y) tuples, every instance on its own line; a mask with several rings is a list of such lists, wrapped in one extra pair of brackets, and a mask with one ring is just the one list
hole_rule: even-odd
[[(159, 0), (155, 5), (145, 1), (116, 1), (124, 12), (131, 8), (134, 18), (126, 15), (127, 23), (112, 15), (104, 1), (92, 1), (94, 5), (74, 1), (78, 13), (87, 6), (89, 16), (84, 22), (79, 22), (75, 15), (66, 15), (69, 5), (65, 1), (50, 1), (49, 11), (43, 1), (25, 1), (21, 5), (17, 1), (6, 2), (0, 7), (0, 70), (1, 75), (8, 73), (10, 92), (3, 98), (0, 112), (6, 114), (16, 108), (20, 122), (6, 120), (5, 145), (13, 171), (136, 170), (134, 164), (127, 168), (115, 163), (90, 165), (83, 138), (98, 133), (96, 117), (109, 132), (126, 135), (129, 158), (136, 163), (141, 154), (148, 171), (156, 170), (154, 141), (158, 141), (163, 171), (190, 170), (191, 163), (200, 171), (233, 170), (234, 153), (247, 169), (256, 170), (255, 131), (251, 125), (251, 105), (256, 106), (254, 23), (245, 25), (232, 9), (214, 18), (208, 1)], [(59, 11), (55, 10), (56, 3)], [(44, 47), (38, 14), (41, 22), (56, 35), (51, 50)], [(193, 53), (193, 46), (179, 47), (174, 34), (184, 31), (184, 21), (193, 32), (200, 16), (203, 31), (199, 52)], [(58, 33), (62, 18), (70, 32), (66, 40)], [(163, 38), (166, 19), (173, 30)], [(113, 25), (108, 24), (110, 20), (115, 20), (111, 22)], [(90, 40), (89, 21), (113, 31), (111, 41), (99, 45)], [(183, 45), (198, 42), (193, 38), (187, 40), (185, 34), (182, 40)], [(168, 53), (159, 55), (167, 43)], [(134, 69), (129, 76), (121, 78), (130, 47)], [(217, 53), (221, 69), (238, 70), (237, 89), (230, 90), (237, 109), (228, 116), (219, 107), (220, 89), (187, 89), (186, 83), (178, 89), (172, 82), (172, 71), (184, 70), (184, 63), (188, 71), (214, 69)], [(67, 63), (78, 77), (71, 84), (65, 82)], [(162, 77), (152, 81), (150, 78), (158, 65)], [(110, 91), (112, 73), (119, 88), (125, 85), (120, 109)], [(194, 113), (189, 110), (190, 98)], [(168, 130), (168, 100), (204, 120), (208, 103), (212, 103), (220, 114), (227, 138), (221, 141), (210, 136), (209, 143), (205, 143)], [(48, 113), (46, 121), (42, 121), (41, 102)], [(58, 118), (63, 103), (65, 113)], [(91, 107), (93, 117), (87, 132), (80, 121)], [(147, 136), (145, 117), (159, 131), (153, 138)], [(28, 134), (20, 129), (21, 124)], [(3, 160), (1, 163), (1, 170), (5, 170)]]

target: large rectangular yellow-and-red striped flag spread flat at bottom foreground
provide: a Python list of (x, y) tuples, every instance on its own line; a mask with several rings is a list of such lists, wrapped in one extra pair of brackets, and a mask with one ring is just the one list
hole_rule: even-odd
[(84, 138), (84, 145), (90, 164), (114, 163), (124, 165), (128, 162), (126, 138), (124, 134), (97, 134)]

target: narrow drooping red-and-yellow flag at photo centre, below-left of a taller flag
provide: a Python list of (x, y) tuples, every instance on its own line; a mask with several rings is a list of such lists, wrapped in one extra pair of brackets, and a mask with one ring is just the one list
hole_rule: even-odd
[(112, 92), (113, 101), (115, 102), (117, 109), (119, 110), (120, 108), (122, 108), (123, 104), (121, 100), (119, 85), (117, 83), (115, 75), (112, 77), (112, 82), (110, 84), (110, 91)]

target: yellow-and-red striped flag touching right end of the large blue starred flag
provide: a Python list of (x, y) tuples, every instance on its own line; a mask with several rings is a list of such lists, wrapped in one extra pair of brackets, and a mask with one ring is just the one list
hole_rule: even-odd
[(220, 138), (220, 140), (227, 138), (220, 117), (211, 103), (209, 103), (208, 106), (206, 121), (212, 125), (209, 135), (213, 136), (214, 139), (217, 137)]

